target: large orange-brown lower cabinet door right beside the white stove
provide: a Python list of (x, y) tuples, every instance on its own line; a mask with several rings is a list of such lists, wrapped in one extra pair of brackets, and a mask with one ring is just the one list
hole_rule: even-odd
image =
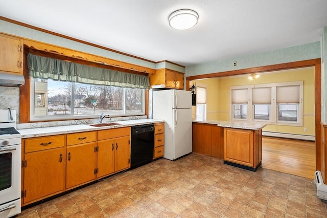
[(64, 148), (31, 152), (25, 155), (24, 204), (64, 189)]

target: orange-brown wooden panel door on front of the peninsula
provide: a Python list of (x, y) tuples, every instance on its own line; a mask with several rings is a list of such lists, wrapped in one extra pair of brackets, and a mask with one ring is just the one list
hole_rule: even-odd
[(224, 128), (224, 160), (255, 167), (252, 130)]

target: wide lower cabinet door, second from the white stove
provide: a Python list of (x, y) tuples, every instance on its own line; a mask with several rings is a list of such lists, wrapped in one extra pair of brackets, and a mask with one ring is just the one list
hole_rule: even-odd
[(95, 180), (95, 147), (95, 142), (67, 147), (66, 188), (71, 188)]

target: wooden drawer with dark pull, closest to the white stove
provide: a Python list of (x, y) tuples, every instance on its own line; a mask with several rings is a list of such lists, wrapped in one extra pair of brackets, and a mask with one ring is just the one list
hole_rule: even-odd
[(47, 136), (25, 140), (25, 153), (63, 147), (65, 136)]

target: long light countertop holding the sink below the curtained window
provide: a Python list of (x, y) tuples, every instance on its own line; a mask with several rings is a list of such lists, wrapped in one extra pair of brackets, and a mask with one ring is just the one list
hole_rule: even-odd
[(39, 127), (39, 128), (24, 128), (24, 129), (17, 129), (17, 130), (21, 134), (21, 138), (24, 139), (24, 138), (32, 138), (32, 137), (39, 137), (39, 136), (52, 136), (52, 135), (59, 135), (59, 134), (79, 133), (79, 132), (87, 132), (92, 130), (120, 128), (126, 126), (144, 125), (144, 124), (159, 123), (159, 122), (164, 122), (164, 121), (153, 120), (153, 119), (139, 119), (139, 120), (115, 121), (114, 123), (119, 123), (120, 125), (102, 126), (102, 127), (91, 126), (92, 123), (90, 123), (90, 124)]

